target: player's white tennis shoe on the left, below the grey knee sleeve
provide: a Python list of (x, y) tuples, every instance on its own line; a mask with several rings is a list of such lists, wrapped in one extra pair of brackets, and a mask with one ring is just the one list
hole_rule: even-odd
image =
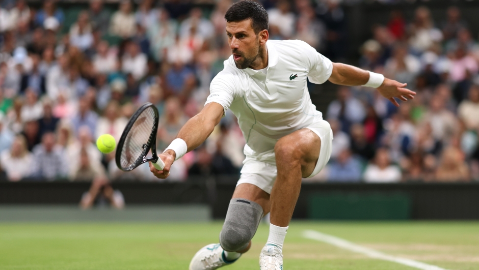
[(236, 260), (227, 261), (220, 244), (209, 244), (195, 254), (190, 262), (190, 270), (215, 270)]

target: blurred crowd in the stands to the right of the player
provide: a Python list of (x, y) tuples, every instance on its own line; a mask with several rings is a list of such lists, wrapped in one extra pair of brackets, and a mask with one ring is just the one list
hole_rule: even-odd
[[(359, 66), (407, 83), (396, 108), (378, 92), (340, 87), (326, 113), (334, 140), (328, 181), (479, 181), (479, 44), (456, 7), (434, 21), (393, 11), (361, 47)], [(477, 33), (475, 33), (477, 35)]]

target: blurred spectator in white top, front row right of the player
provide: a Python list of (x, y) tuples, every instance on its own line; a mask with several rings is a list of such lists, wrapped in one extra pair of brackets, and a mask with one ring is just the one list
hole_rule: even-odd
[(363, 178), (367, 183), (395, 183), (401, 181), (402, 173), (390, 163), (388, 149), (379, 148), (374, 163), (367, 165)]

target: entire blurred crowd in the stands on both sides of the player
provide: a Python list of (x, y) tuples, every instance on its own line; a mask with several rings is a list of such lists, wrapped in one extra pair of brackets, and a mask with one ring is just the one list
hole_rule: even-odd
[[(208, 2), (209, 3), (209, 2)], [(143, 0), (58, 7), (3, 1), (0, 9), (0, 167), (5, 179), (159, 181), (147, 164), (125, 173), (116, 140), (145, 102), (160, 113), (162, 151), (201, 108), (211, 79), (231, 54), (224, 14), (231, 0), (202, 9), (189, 1)], [(333, 61), (347, 52), (339, 0), (264, 0), (270, 39), (300, 39)], [(211, 3), (209, 3), (211, 4)], [(83, 8), (84, 7), (84, 8)], [(372, 89), (340, 87), (325, 118), (333, 154), (316, 180), (471, 181), (479, 175), (479, 47), (460, 11), (444, 21), (419, 8), (412, 21), (393, 12), (361, 48), (360, 67), (408, 83), (417, 97), (400, 108)], [(475, 33), (477, 34), (477, 33)], [(245, 140), (230, 112), (208, 140), (173, 164), (168, 181), (238, 176)], [(475, 175), (475, 176), (474, 176)], [(99, 184), (98, 184), (99, 183)], [(104, 189), (105, 196), (114, 191)], [(92, 195), (93, 194), (93, 195)]]

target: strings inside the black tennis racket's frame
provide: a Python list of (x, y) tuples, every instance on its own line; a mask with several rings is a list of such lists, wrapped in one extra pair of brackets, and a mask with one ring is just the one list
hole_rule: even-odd
[(123, 168), (137, 166), (149, 151), (151, 132), (155, 125), (155, 112), (149, 107), (146, 108), (131, 126), (121, 149), (120, 163)]

